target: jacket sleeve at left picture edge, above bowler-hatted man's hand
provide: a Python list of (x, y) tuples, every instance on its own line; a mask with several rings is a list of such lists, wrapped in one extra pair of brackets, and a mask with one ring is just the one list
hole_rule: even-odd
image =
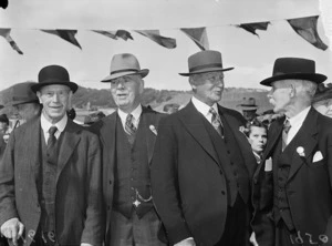
[(14, 133), (11, 134), (0, 162), (0, 226), (19, 217), (14, 196)]

